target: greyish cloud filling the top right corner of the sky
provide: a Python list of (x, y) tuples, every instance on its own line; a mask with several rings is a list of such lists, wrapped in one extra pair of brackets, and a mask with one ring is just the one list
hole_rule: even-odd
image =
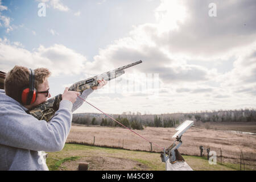
[[(163, 9), (164, 14), (160, 16), (160, 23), (152, 24), (151, 27), (161, 34), (148, 35), (156, 44), (166, 47), (170, 52), (218, 57), (233, 48), (250, 44), (256, 38), (254, 0), (215, 1), (217, 17), (212, 18), (208, 15), (211, 1), (182, 1), (182, 4), (179, 1), (179, 6), (168, 2), (162, 1), (158, 9)], [(174, 9), (183, 10), (178, 11), (184, 12), (182, 15), (177, 14), (177, 17), (182, 17), (181, 20), (176, 20), (178, 18), (175, 11), (172, 11)], [(169, 23), (168, 20), (175, 20), (175, 30), (170, 27), (172, 22)]]

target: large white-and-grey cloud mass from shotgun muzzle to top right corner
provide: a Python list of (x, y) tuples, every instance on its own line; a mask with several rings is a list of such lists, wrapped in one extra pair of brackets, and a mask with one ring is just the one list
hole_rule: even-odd
[[(144, 61), (143, 67), (135, 69), (160, 73), (160, 78), (165, 82), (213, 81), (218, 75), (217, 69), (207, 69), (189, 62), (200, 60), (215, 64), (218, 60), (216, 65), (221, 65), (221, 60), (230, 59), (236, 49), (251, 43), (256, 38), (255, 31), (239, 27), (242, 21), (250, 21), (250, 28), (256, 28), (252, 20), (255, 11), (250, 9), (247, 12), (246, 9), (247, 6), (255, 6), (254, 1), (228, 1), (223, 4), (221, 2), (216, 2), (217, 18), (210, 19), (209, 1), (181, 3), (163, 0), (155, 10), (158, 23), (134, 27), (129, 37), (116, 40), (105, 49), (101, 49), (94, 60), (98, 63), (111, 60), (110, 64), (118, 65), (121, 62), (128, 64), (141, 59)], [(231, 10), (234, 8), (239, 9), (240, 13), (232, 14)], [(246, 12), (249, 15), (241, 16)], [(236, 22), (233, 25), (237, 28), (228, 28), (233, 22)], [(250, 76), (247, 78), (249, 81)]]

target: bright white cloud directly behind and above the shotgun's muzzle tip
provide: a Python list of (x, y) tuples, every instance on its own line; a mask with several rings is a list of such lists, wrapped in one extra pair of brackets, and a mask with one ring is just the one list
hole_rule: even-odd
[[(118, 67), (121, 63), (125, 65), (142, 60), (143, 63), (134, 67), (133, 70), (144, 73), (159, 73), (160, 79), (167, 84), (180, 81), (208, 81), (217, 75), (217, 71), (214, 69), (209, 70), (200, 65), (188, 64), (183, 57), (166, 51), (164, 47), (145, 36), (146, 34), (143, 37), (139, 36), (143, 30), (147, 31), (148, 29), (135, 27), (130, 37), (119, 39), (114, 44), (101, 49), (99, 54), (94, 56), (94, 60), (102, 65), (102, 70), (106, 70), (110, 65)], [(154, 34), (155, 32), (152, 31), (151, 33)], [(111, 61), (106, 63), (106, 60)]]

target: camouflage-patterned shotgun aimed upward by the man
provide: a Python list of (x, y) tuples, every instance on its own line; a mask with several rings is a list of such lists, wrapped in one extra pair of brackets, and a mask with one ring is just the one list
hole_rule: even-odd
[[(125, 73), (123, 69), (133, 67), (134, 65), (137, 65), (139, 63), (142, 63), (142, 61), (140, 60), (135, 63), (131, 63), (123, 67), (114, 69), (112, 71), (105, 72), (100, 75), (76, 82), (75, 84), (69, 87), (69, 90), (82, 93), (82, 91), (89, 89), (92, 86), (97, 86), (98, 85), (97, 80), (101, 80), (102, 78), (104, 78), (104, 80), (109, 81), (114, 78), (117, 78), (118, 76), (121, 76), (123, 75), (123, 73)], [(48, 122), (54, 116), (55, 112), (59, 109), (60, 101), (61, 101), (61, 94), (53, 98), (50, 98), (46, 102), (43, 102), (42, 104), (32, 108), (29, 111), (29, 113), (33, 115), (35, 118), (38, 118), (39, 120), (45, 120)]]

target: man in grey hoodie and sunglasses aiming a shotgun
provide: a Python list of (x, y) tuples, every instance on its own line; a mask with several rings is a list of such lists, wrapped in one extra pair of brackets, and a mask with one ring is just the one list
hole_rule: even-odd
[[(59, 110), (49, 121), (39, 121), (27, 114), (28, 109), (45, 102), (51, 97), (46, 68), (35, 69), (35, 100), (24, 102), (23, 94), (31, 84), (28, 68), (15, 66), (5, 78), (5, 90), (0, 89), (0, 170), (48, 170), (42, 152), (60, 151), (71, 129), (72, 111), (81, 104), (77, 100), (79, 92), (68, 91), (62, 94)], [(95, 89), (106, 84), (98, 80), (99, 85), (85, 90), (81, 97), (86, 98)]]

